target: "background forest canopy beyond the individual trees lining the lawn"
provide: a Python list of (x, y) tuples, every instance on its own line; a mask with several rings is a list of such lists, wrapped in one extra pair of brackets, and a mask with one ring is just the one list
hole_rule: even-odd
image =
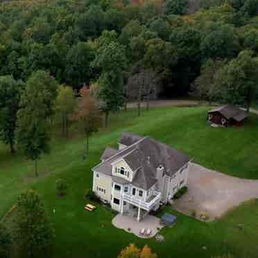
[(0, 13), (0, 76), (24, 82), (44, 70), (74, 89), (94, 83), (106, 40), (126, 53), (123, 83), (159, 70), (169, 98), (188, 94), (207, 60), (258, 51), (258, 0), (19, 0)]

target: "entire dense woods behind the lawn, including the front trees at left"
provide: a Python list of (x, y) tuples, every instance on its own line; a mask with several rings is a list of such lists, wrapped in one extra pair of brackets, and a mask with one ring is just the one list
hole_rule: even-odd
[(257, 96), (258, 0), (21, 0), (0, 13), (0, 139), (35, 165), (57, 114), (66, 136), (70, 117), (88, 121), (83, 87), (106, 126), (132, 78), (139, 102), (193, 94), (249, 109)]

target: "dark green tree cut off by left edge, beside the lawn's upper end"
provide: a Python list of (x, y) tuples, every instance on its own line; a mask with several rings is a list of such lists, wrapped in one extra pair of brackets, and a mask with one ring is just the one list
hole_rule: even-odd
[(0, 140), (15, 153), (15, 128), (23, 83), (12, 76), (0, 77)]

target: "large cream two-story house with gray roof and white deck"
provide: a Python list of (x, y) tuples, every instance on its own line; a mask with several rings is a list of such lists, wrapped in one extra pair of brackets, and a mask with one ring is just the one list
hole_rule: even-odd
[(144, 218), (187, 185), (189, 157), (150, 137), (123, 133), (94, 166), (93, 191), (121, 214)]

